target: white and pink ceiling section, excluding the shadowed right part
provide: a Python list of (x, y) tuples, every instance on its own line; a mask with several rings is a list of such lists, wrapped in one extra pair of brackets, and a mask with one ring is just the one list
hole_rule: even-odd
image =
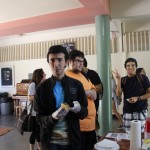
[[(109, 0), (0, 0), (0, 37), (95, 22)], [(7, 8), (7, 9), (6, 9)]]

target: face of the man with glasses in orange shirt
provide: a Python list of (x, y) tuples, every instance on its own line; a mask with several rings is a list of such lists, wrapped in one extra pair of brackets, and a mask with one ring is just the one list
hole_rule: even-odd
[(81, 72), (83, 69), (84, 59), (82, 57), (76, 57), (70, 61), (70, 67), (74, 72)]

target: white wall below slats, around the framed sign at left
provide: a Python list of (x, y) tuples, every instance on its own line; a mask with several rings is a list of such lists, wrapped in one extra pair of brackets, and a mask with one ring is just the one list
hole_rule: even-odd
[(14, 83), (15, 87), (0, 87), (0, 92), (8, 92), (9, 95), (16, 94), (16, 84), (20, 83), (22, 79), (28, 79), (28, 73), (33, 73), (37, 68), (43, 68), (47, 77), (51, 75), (49, 65), (46, 59), (22, 60), (1, 62), (0, 67), (14, 66)]

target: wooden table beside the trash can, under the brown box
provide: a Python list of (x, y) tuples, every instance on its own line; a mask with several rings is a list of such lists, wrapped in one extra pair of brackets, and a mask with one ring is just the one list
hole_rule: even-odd
[(18, 117), (25, 107), (25, 105), (22, 105), (22, 102), (26, 103), (28, 96), (13, 95), (12, 99), (14, 100), (14, 113)]

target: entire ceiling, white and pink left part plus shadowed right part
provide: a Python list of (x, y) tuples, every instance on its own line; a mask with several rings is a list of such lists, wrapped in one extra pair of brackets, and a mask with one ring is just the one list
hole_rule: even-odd
[(0, 37), (94, 24), (105, 14), (112, 21), (148, 22), (149, 6), (150, 0), (0, 0)]

